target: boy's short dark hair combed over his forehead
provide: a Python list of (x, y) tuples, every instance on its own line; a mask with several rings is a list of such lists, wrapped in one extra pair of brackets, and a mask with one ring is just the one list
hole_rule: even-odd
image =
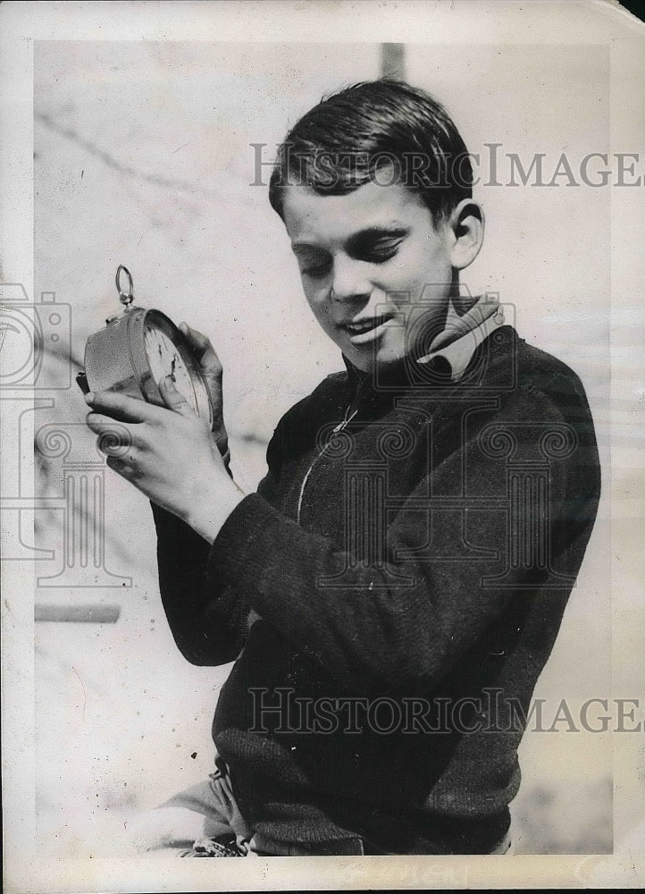
[(403, 81), (373, 80), (324, 97), (278, 150), (269, 200), (283, 218), (289, 184), (344, 195), (368, 181), (399, 182), (430, 209), (433, 222), (473, 195), (473, 168), (446, 109)]

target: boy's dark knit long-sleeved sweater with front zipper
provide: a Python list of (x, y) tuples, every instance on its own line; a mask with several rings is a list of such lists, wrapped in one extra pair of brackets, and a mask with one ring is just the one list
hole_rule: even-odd
[(164, 608), (188, 661), (237, 659), (213, 733), (255, 831), (486, 853), (595, 519), (589, 406), (510, 326), (457, 384), (346, 365), (212, 547), (154, 507)]

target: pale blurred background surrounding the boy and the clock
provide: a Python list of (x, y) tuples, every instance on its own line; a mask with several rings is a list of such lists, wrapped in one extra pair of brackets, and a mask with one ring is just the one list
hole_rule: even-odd
[[(138, 808), (211, 772), (210, 726), (229, 671), (192, 667), (175, 648), (149, 505), (104, 467), (83, 426), (73, 374), (88, 334), (120, 309), (116, 267), (130, 269), (136, 303), (211, 338), (234, 472), (252, 490), (281, 414), (342, 362), (306, 307), (269, 206), (270, 168), (258, 183), (252, 144), (270, 162), (324, 93), (383, 72), (428, 89), (481, 153), (475, 196), (487, 235), (463, 282), (473, 294), (498, 292), (520, 335), (581, 376), (607, 468), (609, 192), (565, 176), (552, 187), (508, 185), (507, 161), (515, 153), (528, 170), (543, 153), (548, 182), (565, 153), (580, 182), (582, 158), (608, 151), (603, 47), (37, 41), (35, 294), (54, 302), (64, 330), (53, 339), (50, 314), (39, 382), (51, 400), (35, 411), (44, 854), (118, 856), (118, 831)], [(485, 164), (491, 144), (498, 186)], [(608, 501), (606, 475), (535, 692), (547, 725), (561, 699), (575, 717), (587, 699), (608, 696)], [(611, 852), (611, 734), (566, 728), (524, 738), (512, 805), (520, 853)]]

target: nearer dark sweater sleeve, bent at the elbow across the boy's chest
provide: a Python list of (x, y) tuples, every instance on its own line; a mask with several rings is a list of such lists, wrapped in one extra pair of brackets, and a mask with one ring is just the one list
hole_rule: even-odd
[[(522, 419), (544, 419), (546, 410), (525, 404), (508, 408), (508, 417), (515, 420), (514, 456), (529, 480), (531, 469), (544, 468), (544, 454), (535, 426)], [(549, 413), (561, 423), (557, 411)], [(428, 468), (384, 531), (381, 563), (356, 561), (252, 494), (227, 519), (208, 564), (348, 690), (436, 681), (513, 595), (527, 597), (549, 583), (560, 594), (570, 589), (589, 536), (580, 506), (589, 509), (595, 484), (585, 483), (583, 468), (576, 471), (575, 455), (549, 466), (548, 490), (531, 485), (524, 493), (521, 477), (513, 490), (506, 460), (496, 459), (500, 446), (484, 449), (474, 437)], [(517, 554), (539, 536), (546, 559), (539, 550)]]

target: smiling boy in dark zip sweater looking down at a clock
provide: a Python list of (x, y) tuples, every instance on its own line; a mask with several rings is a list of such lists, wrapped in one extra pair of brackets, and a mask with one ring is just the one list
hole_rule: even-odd
[(599, 464), (577, 376), (460, 291), (471, 183), (448, 114), (406, 84), (346, 89), (290, 131), (272, 207), (346, 369), (281, 419), (257, 493), (227, 471), (199, 333), (213, 431), (168, 380), (173, 412), (88, 395), (93, 430), (130, 435), (107, 461), (152, 501), (177, 645), (235, 661), (216, 772), (156, 812), (175, 844), (181, 822), (205, 835), (191, 855), (507, 852)]

